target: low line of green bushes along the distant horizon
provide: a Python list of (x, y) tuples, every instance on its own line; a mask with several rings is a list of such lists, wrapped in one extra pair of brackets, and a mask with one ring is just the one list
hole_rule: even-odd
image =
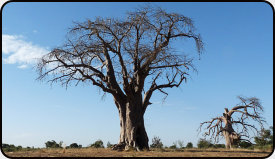
[[(273, 147), (273, 127), (269, 127), (269, 129), (262, 129), (261, 133), (254, 137), (254, 142), (255, 144), (252, 144), (250, 141), (241, 141), (238, 143), (236, 148), (245, 148), (245, 149), (270, 149)], [(46, 148), (62, 148), (63, 142), (60, 141), (57, 143), (54, 140), (47, 141), (45, 143)], [(114, 145), (111, 144), (110, 142), (107, 142), (107, 148), (112, 148)], [(98, 139), (94, 143), (88, 145), (88, 147), (93, 147), (93, 148), (104, 148), (104, 143), (102, 140)], [(66, 146), (66, 148), (82, 148), (82, 145), (79, 145), (77, 143), (72, 143), (69, 146)], [(169, 148), (169, 149), (184, 149), (184, 148), (193, 148), (192, 142), (188, 142), (186, 146), (183, 146), (183, 141), (176, 141), (173, 142), (173, 144), (169, 147), (163, 145), (161, 139), (159, 137), (153, 137), (152, 138), (152, 144), (150, 145), (150, 148), (156, 148), (156, 149), (164, 149), (164, 148)], [(225, 144), (213, 144), (210, 140), (206, 139), (199, 139), (197, 143), (197, 148), (199, 149), (205, 149), (205, 148), (225, 148)], [(22, 146), (15, 146), (13, 144), (6, 144), (2, 143), (2, 150), (4, 152), (14, 152), (14, 151), (29, 151), (29, 150), (34, 150), (34, 149), (39, 149), (39, 148), (34, 148), (34, 147), (22, 147)]]

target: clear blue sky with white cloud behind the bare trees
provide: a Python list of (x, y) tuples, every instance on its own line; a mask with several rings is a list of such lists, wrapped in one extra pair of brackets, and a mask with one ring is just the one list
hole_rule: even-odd
[[(73, 21), (123, 18), (143, 3), (8, 3), (2, 11), (2, 141), (44, 147), (48, 140), (87, 146), (97, 139), (117, 143), (118, 111), (113, 98), (92, 85), (66, 90), (36, 81), (34, 58), (61, 45)], [(153, 3), (154, 4), (154, 3)], [(236, 96), (256, 96), (273, 125), (273, 18), (267, 3), (157, 3), (168, 12), (192, 18), (205, 51), (198, 73), (179, 89), (154, 94), (145, 114), (150, 139), (164, 145), (176, 140), (196, 145), (199, 124), (239, 103)], [(195, 53), (189, 41), (177, 49)]]

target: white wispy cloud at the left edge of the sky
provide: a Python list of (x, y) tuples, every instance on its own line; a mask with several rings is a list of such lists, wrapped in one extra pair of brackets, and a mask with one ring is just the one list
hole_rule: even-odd
[(21, 35), (2, 35), (2, 53), (4, 64), (18, 64), (18, 68), (24, 69), (37, 62), (37, 59), (49, 51), (31, 42), (25, 41)]

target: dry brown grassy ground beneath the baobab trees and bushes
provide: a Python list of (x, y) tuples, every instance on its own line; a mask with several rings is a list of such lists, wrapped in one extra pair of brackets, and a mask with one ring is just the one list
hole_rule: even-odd
[(247, 149), (151, 149), (150, 151), (114, 151), (109, 148), (52, 148), (5, 152), (9, 157), (267, 157), (272, 150)]

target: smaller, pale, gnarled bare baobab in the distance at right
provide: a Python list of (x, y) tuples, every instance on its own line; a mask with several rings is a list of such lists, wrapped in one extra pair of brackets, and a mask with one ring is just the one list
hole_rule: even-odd
[(250, 142), (251, 132), (254, 135), (255, 132), (259, 133), (265, 122), (261, 115), (263, 107), (258, 98), (241, 96), (238, 96), (238, 98), (241, 101), (240, 104), (230, 110), (224, 108), (225, 111), (222, 116), (202, 122), (199, 127), (199, 132), (201, 132), (201, 128), (206, 126), (204, 136), (210, 136), (215, 143), (219, 141), (220, 136), (223, 136), (227, 149), (237, 145), (241, 140)]

